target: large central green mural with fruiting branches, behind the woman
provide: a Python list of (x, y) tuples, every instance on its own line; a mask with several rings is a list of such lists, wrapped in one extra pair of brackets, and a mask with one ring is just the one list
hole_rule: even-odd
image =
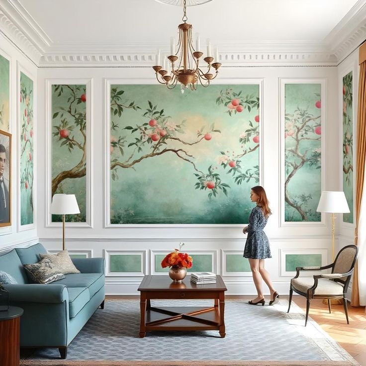
[(110, 223), (247, 222), (259, 103), (259, 85), (111, 85)]

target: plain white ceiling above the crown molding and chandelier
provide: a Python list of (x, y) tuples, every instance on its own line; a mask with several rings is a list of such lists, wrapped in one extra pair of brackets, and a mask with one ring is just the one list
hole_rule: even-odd
[[(0, 0), (1, 2), (13, 0)], [(202, 41), (323, 42), (357, 0), (213, 0), (187, 7)], [(48, 47), (169, 44), (181, 6), (155, 0), (17, 0)], [(28, 14), (26, 14), (28, 13)], [(43, 32), (42, 32), (43, 31)], [(204, 44), (201, 42), (201, 44)]]

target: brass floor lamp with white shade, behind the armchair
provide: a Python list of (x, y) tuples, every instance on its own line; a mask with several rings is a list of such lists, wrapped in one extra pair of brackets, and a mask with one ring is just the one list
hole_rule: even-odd
[[(323, 190), (320, 196), (317, 212), (329, 212), (331, 213), (332, 220), (332, 261), (334, 262), (334, 235), (335, 235), (335, 224), (334, 224), (334, 213), (347, 213), (350, 212), (348, 207), (347, 199), (343, 191), (330, 191)], [(332, 299), (332, 304), (340, 304), (339, 299)], [(327, 304), (328, 300), (324, 299), (323, 303)]]

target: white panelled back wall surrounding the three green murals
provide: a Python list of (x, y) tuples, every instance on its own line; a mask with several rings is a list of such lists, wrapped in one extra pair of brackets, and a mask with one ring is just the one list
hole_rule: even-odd
[[(244, 65), (242, 65), (244, 66)], [(323, 260), (328, 263), (331, 259), (331, 239), (329, 217), (323, 216), (322, 223), (302, 223), (292, 225), (280, 224), (280, 141), (283, 136), (279, 129), (280, 79), (324, 80), (326, 94), (322, 95), (322, 106), (326, 106), (326, 120), (322, 120), (322, 132), (325, 135), (323, 156), (325, 157), (324, 180), (322, 189), (340, 189), (339, 180), (339, 111), (338, 111), (338, 72), (337, 67), (304, 67), (304, 66), (274, 66), (274, 67), (235, 67), (222, 68), (216, 84), (241, 84), (250, 79), (261, 79), (262, 90), (262, 185), (266, 188), (274, 214), (266, 227), (270, 238), (273, 258), (266, 261), (275, 288), (280, 293), (288, 293), (290, 274), (284, 274), (281, 269), (281, 254), (286, 250), (301, 250), (302, 253), (323, 253)], [(92, 81), (92, 176), (90, 188), (92, 192), (92, 227), (71, 227), (67, 225), (66, 237), (69, 250), (89, 251), (93, 257), (106, 255), (105, 251), (130, 251), (143, 255), (145, 259), (144, 272), (153, 272), (151, 263), (155, 251), (168, 253), (177, 247), (179, 242), (185, 242), (184, 250), (214, 253), (214, 271), (223, 274), (223, 258), (227, 251), (242, 253), (245, 237), (242, 225), (227, 226), (192, 226), (166, 225), (165, 227), (124, 227), (106, 228), (105, 222), (105, 179), (106, 164), (104, 157), (109, 142), (106, 142), (105, 108), (106, 80), (114, 83), (155, 84), (153, 70), (150, 68), (42, 68), (38, 70), (38, 105), (39, 131), (38, 146), (38, 234), (40, 242), (48, 250), (61, 249), (61, 227), (47, 226), (48, 200), (46, 192), (49, 189), (51, 177), (47, 176), (46, 156), (47, 136), (49, 131), (45, 126), (47, 118), (46, 84), (47, 80), (58, 79), (57, 83), (70, 83), (72, 80), (87, 79)], [(163, 86), (162, 86), (163, 88)], [(325, 127), (324, 127), (325, 123)], [(48, 127), (50, 128), (50, 127)], [(325, 154), (324, 154), (325, 153)], [(109, 173), (109, 172), (108, 172)], [(243, 192), (249, 194), (249, 192)], [(244, 223), (243, 223), (244, 224)], [(228, 294), (253, 294), (255, 288), (250, 275), (224, 276), (228, 286)], [(139, 275), (107, 276), (106, 292), (108, 294), (136, 294)]]

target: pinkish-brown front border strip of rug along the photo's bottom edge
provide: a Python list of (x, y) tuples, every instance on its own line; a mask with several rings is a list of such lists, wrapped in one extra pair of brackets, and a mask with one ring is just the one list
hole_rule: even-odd
[(344, 361), (65, 361), (21, 360), (20, 366), (360, 366)]

